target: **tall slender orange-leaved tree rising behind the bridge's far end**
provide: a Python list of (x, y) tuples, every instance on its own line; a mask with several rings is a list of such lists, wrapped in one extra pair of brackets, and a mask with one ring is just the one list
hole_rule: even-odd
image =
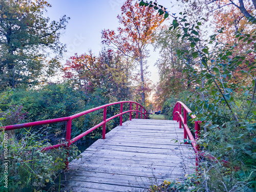
[(117, 33), (113, 30), (103, 30), (102, 42), (140, 63), (141, 101), (144, 103), (143, 59), (146, 57), (146, 47), (151, 44), (153, 34), (163, 22), (164, 16), (161, 9), (159, 9), (160, 14), (156, 14), (156, 10), (140, 7), (139, 3), (133, 5), (133, 0), (127, 0), (121, 10), (122, 13), (117, 18), (123, 27), (119, 27)]

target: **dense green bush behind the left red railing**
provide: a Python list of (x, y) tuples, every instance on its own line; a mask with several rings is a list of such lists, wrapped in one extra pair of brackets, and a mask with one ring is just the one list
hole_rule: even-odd
[[(26, 117), (22, 122), (40, 121), (46, 119), (67, 117), (86, 111), (96, 106), (109, 103), (109, 99), (104, 97), (101, 90), (95, 90), (93, 93), (84, 94), (84, 92), (73, 89), (69, 84), (48, 84), (38, 90), (14, 90), (11, 97), (5, 103), (11, 103), (16, 106), (23, 106), (23, 113)], [(111, 106), (108, 108), (107, 115), (111, 117), (120, 111), (120, 106)], [(108, 118), (107, 117), (107, 118)], [(103, 109), (95, 111), (88, 115), (72, 120), (71, 137), (75, 137), (84, 131), (87, 131), (94, 125), (103, 120)], [(13, 124), (13, 123), (8, 123)], [(8, 125), (5, 123), (5, 125)], [(118, 122), (118, 118), (107, 123), (107, 131), (113, 129)], [(33, 127), (33, 130), (40, 129), (39, 134), (46, 135), (51, 139), (51, 143), (64, 137), (66, 132), (66, 122), (48, 124), (44, 126)], [(102, 130), (97, 129), (93, 133), (83, 138), (98, 139), (101, 138)], [(78, 142), (82, 142), (79, 140)]]

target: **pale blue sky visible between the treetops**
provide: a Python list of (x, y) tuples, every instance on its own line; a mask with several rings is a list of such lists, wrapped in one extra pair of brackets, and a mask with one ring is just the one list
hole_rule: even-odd
[[(121, 14), (121, 6), (125, 0), (48, 0), (47, 2), (52, 5), (46, 13), (51, 20), (58, 20), (63, 15), (70, 17), (67, 29), (60, 38), (60, 41), (67, 45), (67, 53), (62, 59), (64, 64), (75, 53), (79, 55), (92, 50), (95, 55), (98, 55), (102, 48), (101, 31), (118, 28), (117, 15)], [(158, 3), (170, 12), (179, 12), (172, 8), (170, 1), (159, 0)], [(158, 52), (154, 52), (152, 46), (148, 46), (148, 49), (150, 49), (150, 57), (147, 58), (148, 70), (151, 72), (150, 79), (157, 83), (158, 69), (154, 65)]]

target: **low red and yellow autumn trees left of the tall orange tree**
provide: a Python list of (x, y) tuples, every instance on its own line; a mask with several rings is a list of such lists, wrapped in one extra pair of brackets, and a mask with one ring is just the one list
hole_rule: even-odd
[(104, 96), (113, 101), (131, 97), (133, 70), (131, 59), (111, 49), (103, 49), (99, 56), (94, 56), (91, 51), (89, 54), (75, 54), (62, 69), (63, 78), (74, 83), (84, 93), (100, 89)]

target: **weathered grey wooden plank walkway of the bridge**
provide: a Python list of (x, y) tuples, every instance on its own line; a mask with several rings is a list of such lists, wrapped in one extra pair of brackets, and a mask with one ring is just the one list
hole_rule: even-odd
[[(178, 139), (178, 142), (171, 141)], [(170, 120), (133, 119), (94, 142), (62, 175), (62, 191), (148, 191), (194, 172), (195, 153)]]

